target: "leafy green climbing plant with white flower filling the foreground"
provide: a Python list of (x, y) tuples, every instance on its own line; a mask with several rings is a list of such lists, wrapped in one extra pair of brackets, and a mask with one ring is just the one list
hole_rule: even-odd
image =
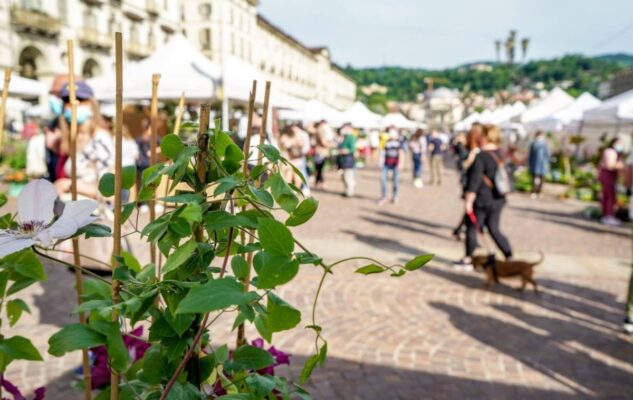
[[(122, 252), (114, 259), (112, 281), (97, 277), (84, 283), (74, 313), (87, 313), (87, 322), (66, 325), (48, 341), (53, 356), (93, 349), (92, 387), (101, 389), (97, 399), (308, 398), (300, 385), (325, 363), (328, 349), (315, 312), (324, 281), (351, 260), (366, 262), (356, 270), (360, 274), (400, 277), (432, 258), (421, 255), (404, 265), (363, 256), (325, 261), (292, 234), (318, 209), (316, 199), (303, 197), (282, 178), (282, 169), (292, 164), (263, 141), (250, 146), (247, 137), (240, 148), (217, 124), (209, 129), (205, 115), (201, 112), (195, 144), (165, 136), (160, 150), (166, 161), (141, 177), (138, 202), (158, 198), (175, 206), (142, 227), (131, 218), (137, 203), (121, 205), (121, 224), (133, 225), (165, 262), (141, 265)], [(258, 157), (252, 157), (255, 147)], [(134, 184), (135, 173), (135, 168), (121, 170), (121, 189)], [(168, 180), (171, 189), (187, 189), (160, 197), (161, 180)], [(105, 197), (120, 196), (115, 182), (114, 174), (102, 177), (99, 189)], [(0, 304), (11, 325), (28, 312), (20, 290), (46, 278), (37, 254), (52, 258), (46, 248), (73, 235), (110, 234), (93, 223), (94, 202), (68, 203), (61, 216), (51, 206), (49, 213), (55, 196), (46, 187), (41, 181), (29, 183), (24, 196), (39, 196), (38, 203), (20, 204), (16, 219), (0, 218), (6, 229), (0, 233), (6, 255), (0, 263)], [(293, 285), (306, 265), (322, 271), (307, 317), (277, 292)], [(213, 342), (210, 332), (219, 329), (214, 323), (222, 316), (233, 319), (235, 342)], [(247, 324), (262, 339), (246, 338)], [(314, 335), (314, 354), (300, 382), (291, 382), (274, 374), (288, 356), (272, 343), (277, 333), (300, 325)], [(28, 339), (0, 338), (0, 371), (14, 359), (41, 360)]]

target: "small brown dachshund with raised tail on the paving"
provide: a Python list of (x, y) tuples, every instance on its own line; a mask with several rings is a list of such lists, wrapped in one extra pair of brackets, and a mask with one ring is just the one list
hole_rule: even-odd
[(484, 284), (490, 286), (492, 283), (499, 283), (499, 278), (511, 276), (521, 276), (521, 287), (518, 290), (524, 290), (529, 283), (534, 287), (534, 292), (538, 293), (538, 287), (534, 278), (534, 267), (539, 265), (545, 259), (543, 252), (539, 252), (541, 258), (537, 262), (527, 262), (519, 260), (500, 261), (496, 260), (494, 254), (488, 256), (474, 256), (473, 266), (475, 269), (482, 269), (486, 274)]

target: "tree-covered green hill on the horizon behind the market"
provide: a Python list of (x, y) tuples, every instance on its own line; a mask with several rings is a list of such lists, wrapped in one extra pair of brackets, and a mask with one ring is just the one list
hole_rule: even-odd
[[(476, 68), (481, 65), (488, 67)], [(368, 100), (360, 92), (360, 87), (375, 82), (389, 89), (386, 99), (411, 101), (415, 100), (417, 94), (426, 90), (424, 78), (427, 77), (439, 78), (441, 83), (437, 86), (468, 89), (486, 95), (517, 85), (526, 88), (534, 87), (537, 83), (544, 84), (547, 89), (562, 84), (571, 94), (576, 95), (584, 91), (596, 94), (600, 82), (630, 66), (633, 66), (633, 55), (609, 54), (598, 57), (567, 55), (551, 60), (530, 61), (514, 67), (482, 62), (443, 70), (395, 66), (377, 68), (347, 66), (344, 70), (358, 84), (361, 99)]]

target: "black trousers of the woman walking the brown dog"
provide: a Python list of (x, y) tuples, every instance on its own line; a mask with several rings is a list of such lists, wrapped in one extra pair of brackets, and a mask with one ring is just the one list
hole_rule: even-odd
[[(477, 217), (477, 222), (479, 226), (486, 227), (488, 229), (488, 233), (492, 236), (492, 239), (497, 244), (497, 247), (506, 258), (512, 257), (512, 248), (510, 247), (510, 242), (508, 238), (506, 238), (503, 233), (499, 230), (499, 223), (501, 222), (501, 211), (503, 211), (503, 207), (505, 205), (505, 200), (499, 199), (495, 200), (488, 207), (475, 207), (475, 216)], [(466, 221), (466, 256), (471, 257), (475, 252), (475, 248), (477, 247), (477, 227), (470, 220), (470, 218)]]

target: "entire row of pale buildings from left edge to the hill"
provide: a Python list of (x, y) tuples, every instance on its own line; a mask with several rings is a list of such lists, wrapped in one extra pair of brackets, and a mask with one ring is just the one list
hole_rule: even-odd
[(238, 57), (288, 95), (337, 109), (356, 97), (327, 48), (306, 47), (274, 26), (258, 15), (256, 0), (0, 0), (0, 64), (48, 85), (67, 73), (73, 39), (75, 73), (97, 76), (114, 67), (117, 31), (126, 60), (183, 32), (213, 61)]

